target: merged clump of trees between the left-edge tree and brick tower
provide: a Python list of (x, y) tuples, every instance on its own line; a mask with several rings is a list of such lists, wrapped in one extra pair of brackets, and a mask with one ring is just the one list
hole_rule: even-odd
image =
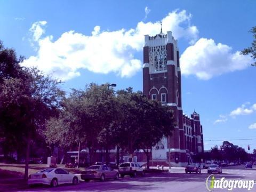
[(142, 92), (129, 87), (115, 93), (107, 84), (90, 84), (62, 100), (61, 115), (49, 121), (45, 134), (48, 142), (62, 146), (82, 142), (89, 149), (90, 162), (97, 148), (105, 149), (106, 163), (110, 147), (116, 146), (117, 154), (122, 149), (130, 155), (143, 149), (149, 166), (152, 147), (171, 135), (173, 127), (171, 109)]

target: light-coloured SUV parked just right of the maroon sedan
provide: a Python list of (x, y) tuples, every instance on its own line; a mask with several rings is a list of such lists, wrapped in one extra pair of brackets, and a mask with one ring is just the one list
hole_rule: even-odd
[(145, 175), (143, 167), (134, 162), (121, 163), (118, 171), (122, 178), (124, 175), (130, 175), (130, 177), (136, 177), (137, 174)]

